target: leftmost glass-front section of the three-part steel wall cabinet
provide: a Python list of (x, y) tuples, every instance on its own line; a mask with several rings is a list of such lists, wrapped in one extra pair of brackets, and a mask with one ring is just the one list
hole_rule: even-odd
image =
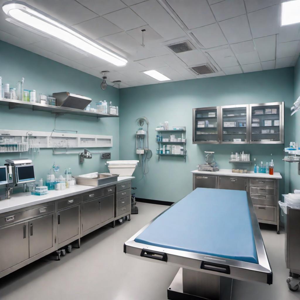
[(193, 108), (193, 144), (219, 143), (219, 107)]

